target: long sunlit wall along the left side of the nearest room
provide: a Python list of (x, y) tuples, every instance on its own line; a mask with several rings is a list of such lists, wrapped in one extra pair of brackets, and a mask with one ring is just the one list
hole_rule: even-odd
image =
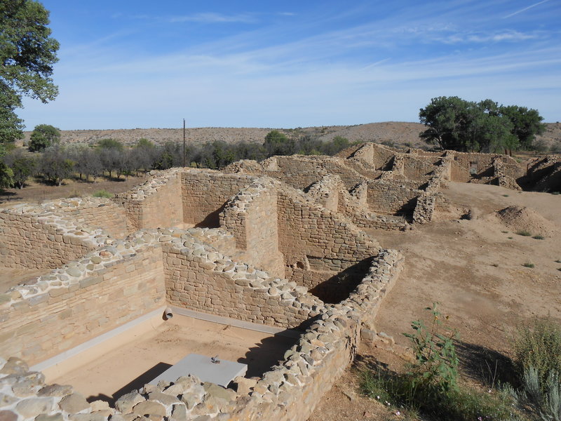
[(164, 302), (161, 248), (116, 241), (0, 295), (0, 355), (43, 361)]

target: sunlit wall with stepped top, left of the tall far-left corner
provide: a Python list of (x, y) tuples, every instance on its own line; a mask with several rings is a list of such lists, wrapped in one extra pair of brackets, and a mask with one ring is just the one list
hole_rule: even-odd
[(133, 230), (174, 227), (184, 222), (181, 198), (182, 168), (151, 171), (151, 178), (112, 199), (125, 208)]

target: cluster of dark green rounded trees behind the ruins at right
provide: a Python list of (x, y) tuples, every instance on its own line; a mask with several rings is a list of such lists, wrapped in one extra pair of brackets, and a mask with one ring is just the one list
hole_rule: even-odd
[(456, 96), (433, 98), (420, 109), (419, 119), (428, 127), (421, 138), (457, 151), (529, 149), (535, 136), (545, 130), (536, 109), (499, 105), (493, 100), (472, 102)]

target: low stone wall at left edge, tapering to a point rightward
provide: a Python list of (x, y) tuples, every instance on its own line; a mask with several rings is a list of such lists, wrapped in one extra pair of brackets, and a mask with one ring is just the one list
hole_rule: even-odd
[(18, 205), (0, 211), (0, 265), (53, 269), (81, 258), (109, 237), (101, 229), (77, 225), (50, 205)]

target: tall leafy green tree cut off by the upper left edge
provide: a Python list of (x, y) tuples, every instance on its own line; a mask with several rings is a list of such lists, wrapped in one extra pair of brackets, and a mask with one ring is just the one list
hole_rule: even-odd
[(58, 94), (50, 76), (59, 44), (48, 24), (48, 11), (38, 1), (0, 1), (0, 142), (23, 137), (15, 115), (22, 95), (48, 102)]

